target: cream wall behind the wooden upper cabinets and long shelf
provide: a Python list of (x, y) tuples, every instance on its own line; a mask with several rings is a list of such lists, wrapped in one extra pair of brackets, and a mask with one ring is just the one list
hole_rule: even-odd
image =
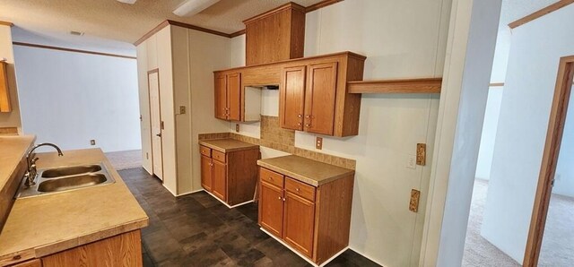
[[(449, 10), (450, 0), (332, 4), (307, 14), (305, 56), (345, 50), (367, 56), (365, 80), (440, 77)], [(231, 54), (244, 49), (231, 43)], [(268, 105), (278, 103), (273, 92), (264, 99), (264, 113), (277, 116)], [(432, 159), (426, 167), (405, 165), (417, 142), (432, 151), (438, 110), (436, 94), (365, 94), (359, 135), (323, 136), (322, 152), (357, 160), (350, 246), (384, 266), (418, 264)], [(258, 125), (241, 124), (240, 134), (258, 136)], [(296, 132), (295, 146), (313, 151), (314, 138)], [(412, 188), (422, 191), (419, 213), (408, 210)]]

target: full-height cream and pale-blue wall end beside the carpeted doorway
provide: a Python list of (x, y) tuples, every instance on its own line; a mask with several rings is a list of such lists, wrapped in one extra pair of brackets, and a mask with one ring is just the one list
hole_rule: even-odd
[(500, 4), (452, 4), (421, 266), (462, 263)]

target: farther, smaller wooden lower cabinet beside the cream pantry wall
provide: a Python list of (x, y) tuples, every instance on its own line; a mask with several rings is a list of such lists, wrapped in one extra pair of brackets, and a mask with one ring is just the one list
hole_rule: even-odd
[(200, 145), (200, 152), (201, 185), (205, 191), (230, 206), (253, 200), (258, 148), (223, 153)]

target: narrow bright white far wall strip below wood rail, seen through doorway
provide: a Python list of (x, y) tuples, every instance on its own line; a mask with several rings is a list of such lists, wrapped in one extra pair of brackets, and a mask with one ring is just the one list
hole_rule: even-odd
[(483, 134), (481, 135), (481, 147), (478, 151), (475, 175), (475, 177), (485, 180), (491, 177), (492, 153), (494, 153), (494, 140), (496, 139), (496, 130), (499, 125), (502, 90), (502, 87), (491, 87), (488, 89)]

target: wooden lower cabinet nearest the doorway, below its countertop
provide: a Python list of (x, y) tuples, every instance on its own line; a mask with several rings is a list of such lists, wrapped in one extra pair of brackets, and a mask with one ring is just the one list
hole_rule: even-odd
[(349, 245), (354, 177), (317, 187), (259, 168), (259, 225), (321, 264)]

